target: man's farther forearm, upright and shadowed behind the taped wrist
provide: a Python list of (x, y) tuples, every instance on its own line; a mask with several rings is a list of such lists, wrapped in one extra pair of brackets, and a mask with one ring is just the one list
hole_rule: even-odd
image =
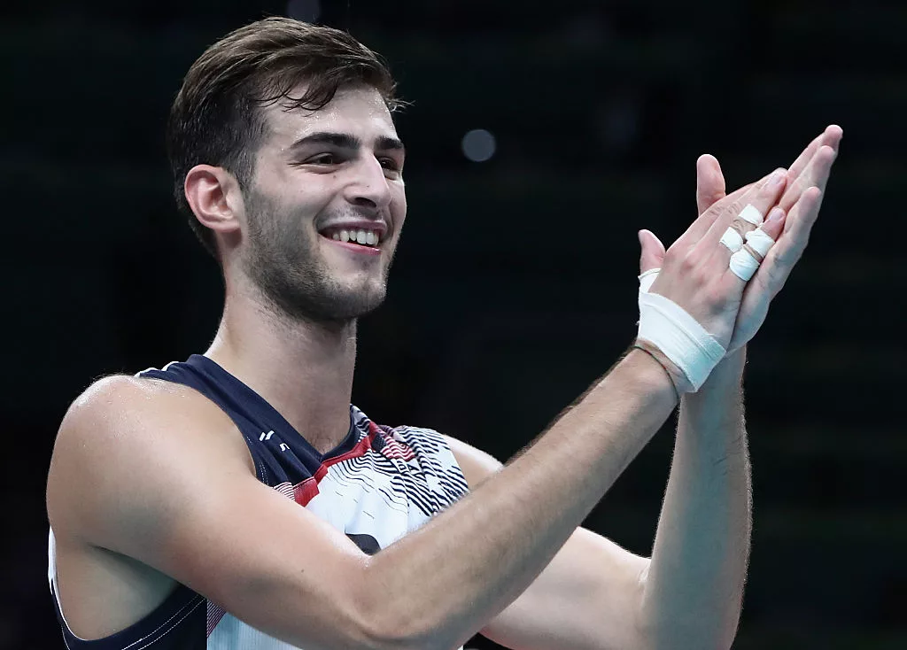
[(655, 647), (730, 647), (749, 554), (750, 472), (741, 350), (685, 395), (643, 618)]

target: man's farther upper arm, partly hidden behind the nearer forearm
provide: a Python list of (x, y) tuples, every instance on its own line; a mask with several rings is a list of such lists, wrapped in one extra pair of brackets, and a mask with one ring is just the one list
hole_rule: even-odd
[[(453, 454), (471, 489), (502, 464), (453, 438)], [(649, 559), (588, 529), (576, 529), (520, 597), (482, 634), (520, 650), (639, 647), (639, 611)]]

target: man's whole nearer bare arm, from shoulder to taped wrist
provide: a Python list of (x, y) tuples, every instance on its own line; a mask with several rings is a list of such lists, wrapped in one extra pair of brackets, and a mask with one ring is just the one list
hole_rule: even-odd
[(217, 407), (163, 393), (112, 378), (73, 405), (48, 483), (52, 525), (307, 648), (463, 643), (549, 563), (675, 405), (663, 369), (632, 352), (493, 480), (369, 558), (258, 482)]

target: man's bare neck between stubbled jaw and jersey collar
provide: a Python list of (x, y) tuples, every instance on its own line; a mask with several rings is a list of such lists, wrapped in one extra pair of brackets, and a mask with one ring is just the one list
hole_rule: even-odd
[(349, 431), (356, 320), (290, 320), (257, 292), (243, 294), (228, 291), (205, 355), (267, 400), (317, 451), (333, 449)]

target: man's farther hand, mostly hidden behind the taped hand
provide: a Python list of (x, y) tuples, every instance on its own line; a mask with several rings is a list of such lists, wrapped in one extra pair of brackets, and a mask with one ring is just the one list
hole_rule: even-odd
[[(840, 127), (829, 126), (809, 143), (788, 170), (787, 189), (778, 204), (787, 212), (784, 229), (780, 238), (769, 233), (777, 243), (746, 286), (727, 354), (735, 352), (756, 335), (766, 320), (768, 305), (803, 255), (810, 230), (818, 217), (822, 194), (842, 134)], [(697, 207), (700, 215), (707, 211), (727, 209), (728, 205), (738, 202), (752, 187), (746, 185), (726, 196), (725, 180), (718, 161), (708, 155), (697, 160)], [(665, 249), (658, 238), (644, 230), (640, 233), (639, 240), (642, 244), (640, 269), (645, 271), (660, 267)]]

